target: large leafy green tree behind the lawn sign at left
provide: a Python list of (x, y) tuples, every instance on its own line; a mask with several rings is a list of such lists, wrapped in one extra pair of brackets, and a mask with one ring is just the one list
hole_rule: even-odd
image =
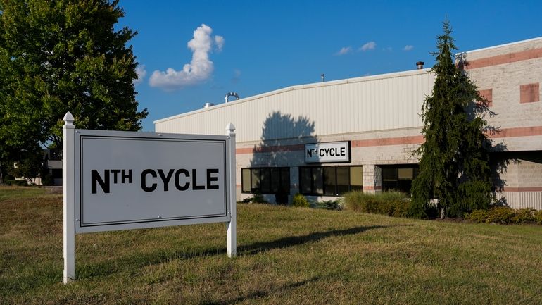
[[(62, 118), (77, 128), (140, 130), (137, 62), (115, 30), (118, 1), (0, 0), (0, 163), (20, 151), (62, 147)], [(5, 169), (5, 168), (4, 168)]]

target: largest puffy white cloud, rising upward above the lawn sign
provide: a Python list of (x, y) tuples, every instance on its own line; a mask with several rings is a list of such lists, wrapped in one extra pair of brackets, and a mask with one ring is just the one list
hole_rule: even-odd
[(188, 42), (192, 51), (192, 60), (185, 63), (182, 70), (168, 68), (165, 72), (155, 70), (149, 79), (152, 87), (161, 87), (166, 90), (182, 89), (196, 85), (207, 80), (213, 73), (213, 61), (209, 60), (209, 53), (213, 44), (220, 50), (224, 46), (224, 37), (211, 38), (213, 29), (202, 24), (194, 30), (194, 38)]

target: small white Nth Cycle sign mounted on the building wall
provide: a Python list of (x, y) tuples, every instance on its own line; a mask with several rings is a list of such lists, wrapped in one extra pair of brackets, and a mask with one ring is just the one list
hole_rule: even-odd
[(350, 162), (350, 142), (305, 144), (305, 163)]

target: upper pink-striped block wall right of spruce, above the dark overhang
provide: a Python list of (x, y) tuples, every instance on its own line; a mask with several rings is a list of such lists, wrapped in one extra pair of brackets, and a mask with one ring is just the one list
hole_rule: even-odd
[(465, 59), (481, 95), (491, 97), (495, 115), (486, 119), (503, 131), (493, 135), (496, 142), (509, 151), (542, 150), (542, 39), (469, 51)]

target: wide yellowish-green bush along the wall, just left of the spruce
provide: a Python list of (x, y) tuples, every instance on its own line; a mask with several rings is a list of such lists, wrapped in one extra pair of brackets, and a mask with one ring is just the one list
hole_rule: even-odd
[(351, 191), (344, 194), (344, 204), (351, 211), (406, 217), (410, 199), (406, 194), (396, 191), (377, 194)]

